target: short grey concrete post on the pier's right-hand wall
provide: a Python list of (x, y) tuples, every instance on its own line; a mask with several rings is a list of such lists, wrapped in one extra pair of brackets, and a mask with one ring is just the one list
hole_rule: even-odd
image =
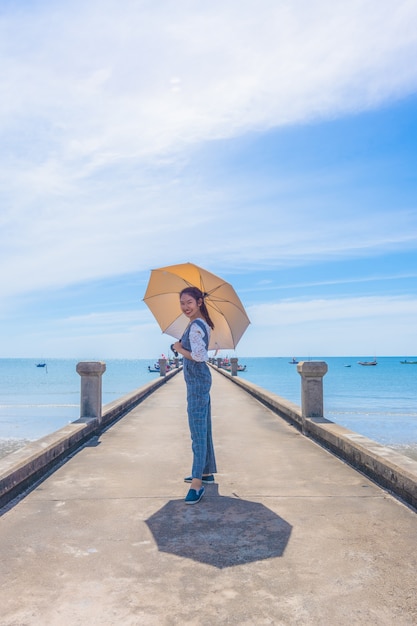
[(323, 417), (323, 377), (327, 373), (324, 361), (302, 361), (297, 365), (301, 376), (301, 415), (303, 433), (307, 434), (306, 418)]

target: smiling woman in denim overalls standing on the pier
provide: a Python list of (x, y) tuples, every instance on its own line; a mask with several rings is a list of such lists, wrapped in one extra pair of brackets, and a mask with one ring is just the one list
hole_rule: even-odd
[(214, 324), (204, 302), (206, 294), (197, 287), (186, 287), (180, 293), (182, 312), (190, 323), (173, 348), (184, 357), (184, 378), (187, 386), (187, 413), (190, 426), (193, 467), (186, 504), (197, 504), (204, 495), (203, 483), (213, 483), (217, 472), (211, 433), (211, 373), (206, 363), (210, 331)]

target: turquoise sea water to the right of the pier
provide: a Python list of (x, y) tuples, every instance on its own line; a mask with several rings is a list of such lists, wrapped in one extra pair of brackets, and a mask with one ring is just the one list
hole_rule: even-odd
[[(314, 360), (328, 365), (323, 378), (324, 414), (328, 419), (384, 445), (417, 444), (417, 365), (403, 365), (400, 357), (378, 358), (374, 367), (358, 364), (373, 357)], [(300, 405), (300, 375), (289, 361), (241, 358), (239, 362), (247, 371), (239, 376)]]

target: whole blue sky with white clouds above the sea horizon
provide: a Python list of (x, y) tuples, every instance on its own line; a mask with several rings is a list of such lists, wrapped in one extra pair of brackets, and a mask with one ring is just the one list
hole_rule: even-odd
[(238, 356), (417, 354), (417, 5), (2, 2), (0, 357), (156, 358), (231, 282)]

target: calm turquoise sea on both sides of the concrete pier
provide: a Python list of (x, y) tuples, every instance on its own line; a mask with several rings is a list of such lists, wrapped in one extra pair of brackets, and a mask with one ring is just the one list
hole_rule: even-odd
[[(229, 356), (234, 356), (233, 354)], [(417, 460), (416, 357), (297, 357), (325, 361), (325, 417)], [(103, 374), (103, 405), (157, 378), (155, 360), (109, 359)], [(79, 417), (77, 360), (0, 359), (0, 457)], [(292, 357), (239, 357), (238, 376), (301, 404), (301, 378)]]

